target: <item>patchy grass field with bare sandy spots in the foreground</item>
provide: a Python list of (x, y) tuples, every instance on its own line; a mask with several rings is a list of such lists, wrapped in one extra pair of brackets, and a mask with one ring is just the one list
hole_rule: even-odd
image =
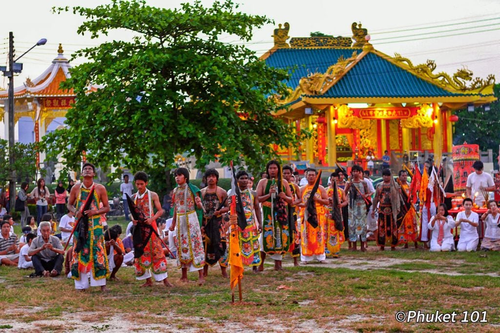
[[(106, 294), (77, 292), (69, 279), (27, 278), (29, 271), (0, 266), (0, 330), (497, 332), (499, 259), (496, 252), (381, 252), (373, 244), (364, 253), (342, 248), (340, 258), (327, 264), (293, 267), (287, 257), (283, 271), (272, 270), (272, 261), (263, 273), (245, 270), (244, 302), (236, 304), (217, 267), (203, 286), (196, 285), (196, 273), (183, 284), (174, 260), (168, 271), (174, 287), (142, 289), (133, 269), (123, 267)], [(455, 311), (457, 322), (396, 321), (396, 312), (411, 310)], [(487, 322), (460, 322), (463, 311), (486, 311)]]

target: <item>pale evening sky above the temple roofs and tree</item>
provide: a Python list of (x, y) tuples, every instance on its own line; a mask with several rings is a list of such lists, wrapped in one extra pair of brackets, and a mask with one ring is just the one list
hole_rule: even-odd
[[(47, 43), (37, 46), (19, 62), (23, 71), (15, 78), (14, 86), (26, 79), (36, 78), (57, 55), (58, 43), (64, 54), (85, 46), (96, 45), (109, 39), (130, 39), (133, 33), (117, 31), (108, 38), (91, 39), (88, 34), (78, 35), (77, 27), (83, 18), (64, 12), (54, 14), (52, 6), (82, 5), (95, 7), (109, 3), (106, 0), (23, 0), (2, 1), (0, 17), (0, 65), (5, 65), (8, 51), (8, 32), (14, 34), (16, 55), (22, 54), (40, 38)], [(147, 0), (152, 6), (175, 8), (178, 0)], [(211, 0), (201, 1), (210, 5)], [(413, 64), (433, 59), (434, 72), (450, 74), (462, 66), (472, 70), (474, 77), (485, 78), (495, 74), (500, 81), (500, 1), (499, 0), (239, 0), (239, 10), (266, 15), (274, 20), (254, 30), (247, 46), (262, 54), (272, 47), (271, 34), (278, 23), (288, 22), (291, 37), (306, 37), (311, 31), (335, 36), (351, 36), (352, 22), (361, 22), (368, 29), (375, 49), (389, 55), (394, 52), (408, 57)], [(10, 12), (11, 14), (6, 14)], [(237, 42), (233, 36), (223, 36), (224, 42)], [(78, 58), (73, 65), (84, 62)], [(0, 87), (7, 80), (0, 78)]]

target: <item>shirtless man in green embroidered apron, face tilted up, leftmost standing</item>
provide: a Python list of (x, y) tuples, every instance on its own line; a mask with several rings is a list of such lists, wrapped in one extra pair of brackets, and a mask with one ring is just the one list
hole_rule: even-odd
[[(88, 162), (84, 163), (81, 169), (83, 181), (71, 187), (69, 193), (67, 208), (74, 213), (75, 218), (79, 220), (83, 214), (88, 216), (88, 222), (77, 226), (74, 231), (71, 278), (74, 279), (76, 289), (88, 288), (88, 277), (90, 277), (90, 286), (100, 286), (101, 290), (105, 291), (109, 265), (104, 249), (100, 215), (109, 211), (109, 203), (106, 188), (93, 182), (94, 175), (95, 166)], [(90, 208), (81, 211), (90, 193), (92, 193), (92, 197), (89, 197)], [(101, 208), (99, 208), (99, 203), (102, 203)], [(84, 218), (81, 218), (78, 224), (83, 221)], [(87, 231), (82, 232), (82, 230)]]

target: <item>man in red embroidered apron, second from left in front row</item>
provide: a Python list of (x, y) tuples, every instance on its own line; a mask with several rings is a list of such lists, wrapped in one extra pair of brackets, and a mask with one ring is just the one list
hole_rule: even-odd
[[(151, 225), (158, 232), (156, 219), (163, 214), (158, 194), (146, 188), (148, 177), (145, 172), (135, 172), (133, 180), (135, 187), (137, 187), (137, 193), (132, 195), (132, 199), (144, 216), (147, 216), (144, 223)], [(156, 208), (154, 215), (153, 206)], [(137, 221), (132, 220), (132, 223), (136, 225)], [(135, 278), (146, 280), (141, 286), (152, 286), (151, 275), (156, 281), (163, 281), (165, 286), (172, 286), (167, 278), (166, 257), (161, 247), (161, 241), (154, 232), (144, 246), (144, 253), (139, 258), (135, 258)]]

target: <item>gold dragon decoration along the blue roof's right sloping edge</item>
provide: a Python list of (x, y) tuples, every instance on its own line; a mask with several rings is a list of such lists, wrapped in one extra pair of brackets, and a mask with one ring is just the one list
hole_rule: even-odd
[[(493, 74), (489, 74), (486, 79), (476, 77), (473, 81), (471, 81), (473, 73), (470, 69), (465, 67), (458, 69), (453, 76), (449, 76), (447, 73), (442, 71), (435, 74), (433, 73), (436, 68), (434, 60), (427, 59), (425, 63), (413, 65), (408, 58), (401, 56), (399, 53), (394, 53), (393, 59), (400, 64), (406, 65), (406, 67), (415, 74), (428, 78), (443, 88), (475, 93), (488, 88), (487, 90), (490, 91), (485, 91), (483, 93), (493, 92), (492, 89), (495, 83), (495, 76)], [(469, 81), (471, 81), (471, 83), (467, 85), (467, 82)]]

